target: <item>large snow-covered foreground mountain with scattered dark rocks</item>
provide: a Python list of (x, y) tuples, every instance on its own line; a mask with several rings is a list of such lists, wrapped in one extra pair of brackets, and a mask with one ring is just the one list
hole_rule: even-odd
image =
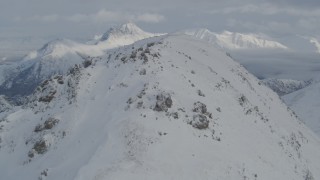
[(44, 81), (0, 122), (3, 179), (320, 178), (320, 141), (210, 44), (169, 35)]

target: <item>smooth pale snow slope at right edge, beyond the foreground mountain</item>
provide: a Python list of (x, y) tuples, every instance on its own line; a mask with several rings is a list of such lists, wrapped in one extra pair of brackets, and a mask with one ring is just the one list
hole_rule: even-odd
[(283, 96), (286, 104), (320, 137), (320, 83)]

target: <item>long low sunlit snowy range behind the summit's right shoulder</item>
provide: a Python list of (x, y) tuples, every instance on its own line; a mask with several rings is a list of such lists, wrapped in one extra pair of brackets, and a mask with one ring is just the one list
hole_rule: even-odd
[(208, 29), (187, 30), (185, 33), (222, 49), (288, 49), (279, 42), (267, 40), (256, 34), (241, 34), (230, 31), (219, 34), (210, 32)]

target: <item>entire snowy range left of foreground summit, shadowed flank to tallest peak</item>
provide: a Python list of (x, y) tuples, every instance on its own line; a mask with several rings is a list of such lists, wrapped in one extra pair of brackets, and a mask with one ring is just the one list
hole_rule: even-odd
[(142, 31), (133, 23), (111, 28), (96, 44), (82, 44), (57, 39), (32, 51), (24, 59), (9, 67), (0, 67), (0, 94), (14, 99), (29, 95), (39, 83), (54, 74), (66, 74), (75, 64), (99, 58), (106, 50), (132, 44), (137, 40), (156, 36)]

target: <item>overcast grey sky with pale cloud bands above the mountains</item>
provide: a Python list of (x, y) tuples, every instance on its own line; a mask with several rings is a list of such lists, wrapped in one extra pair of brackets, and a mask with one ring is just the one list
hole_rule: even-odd
[(0, 0), (0, 37), (88, 38), (128, 21), (151, 32), (319, 37), (320, 0)]

